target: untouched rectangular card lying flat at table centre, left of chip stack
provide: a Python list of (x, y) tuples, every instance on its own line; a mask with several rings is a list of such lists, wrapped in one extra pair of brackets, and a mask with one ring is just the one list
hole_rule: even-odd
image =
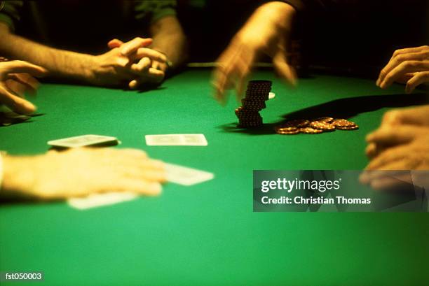
[(207, 146), (204, 134), (146, 135), (148, 146)]

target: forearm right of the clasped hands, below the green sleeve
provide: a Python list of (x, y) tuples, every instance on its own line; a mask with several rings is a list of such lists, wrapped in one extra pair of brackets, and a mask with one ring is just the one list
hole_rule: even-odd
[(186, 37), (176, 17), (163, 17), (151, 25), (154, 43), (151, 48), (167, 55), (173, 67), (186, 62)]

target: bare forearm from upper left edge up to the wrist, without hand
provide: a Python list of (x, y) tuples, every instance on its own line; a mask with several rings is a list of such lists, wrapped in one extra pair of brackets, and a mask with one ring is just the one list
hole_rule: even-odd
[(55, 78), (72, 78), (87, 81), (91, 77), (92, 55), (58, 50), (22, 38), (8, 31), (0, 23), (0, 54), (11, 59), (20, 59), (49, 71)]

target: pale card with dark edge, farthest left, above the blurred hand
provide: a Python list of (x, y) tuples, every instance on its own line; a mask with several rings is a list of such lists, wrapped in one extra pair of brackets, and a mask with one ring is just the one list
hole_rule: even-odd
[(81, 135), (58, 140), (48, 141), (48, 145), (61, 148), (78, 148), (93, 145), (116, 145), (118, 139), (102, 135)]

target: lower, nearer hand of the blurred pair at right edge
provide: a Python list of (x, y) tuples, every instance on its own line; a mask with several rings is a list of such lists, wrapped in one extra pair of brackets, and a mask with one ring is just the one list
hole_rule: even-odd
[(429, 127), (383, 127), (369, 134), (367, 141), (374, 149), (367, 148), (371, 162), (360, 175), (361, 183), (374, 190), (429, 186)]

